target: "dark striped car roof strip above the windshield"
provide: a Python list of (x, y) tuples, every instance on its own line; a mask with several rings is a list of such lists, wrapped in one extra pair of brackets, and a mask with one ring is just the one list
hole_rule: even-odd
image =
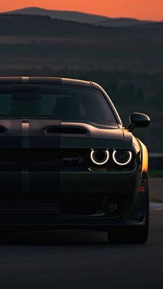
[(0, 84), (60, 84), (66, 86), (93, 87), (91, 81), (60, 77), (0, 77)]

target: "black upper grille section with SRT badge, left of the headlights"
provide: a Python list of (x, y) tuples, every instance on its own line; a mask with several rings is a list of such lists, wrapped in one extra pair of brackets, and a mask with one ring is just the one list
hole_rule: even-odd
[(90, 150), (10, 148), (0, 150), (0, 166), (90, 166)]

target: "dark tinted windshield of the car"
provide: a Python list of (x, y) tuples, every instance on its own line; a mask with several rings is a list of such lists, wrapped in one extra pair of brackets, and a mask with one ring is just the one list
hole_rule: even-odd
[(117, 123), (102, 92), (75, 86), (0, 86), (0, 117)]

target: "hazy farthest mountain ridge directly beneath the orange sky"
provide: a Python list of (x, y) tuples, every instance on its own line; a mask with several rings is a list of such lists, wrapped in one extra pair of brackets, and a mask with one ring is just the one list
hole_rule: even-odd
[[(4, 13), (3, 13), (4, 14)], [(49, 16), (52, 19), (61, 19), (65, 21), (75, 21), (79, 23), (89, 23), (95, 26), (104, 27), (126, 27), (126, 26), (138, 26), (153, 21), (142, 21), (132, 18), (110, 18), (95, 14), (87, 14), (75, 11), (64, 10), (46, 10), (37, 7), (22, 8), (19, 10), (13, 10), (5, 12), (5, 14), (19, 14), (19, 15), (41, 15)]]

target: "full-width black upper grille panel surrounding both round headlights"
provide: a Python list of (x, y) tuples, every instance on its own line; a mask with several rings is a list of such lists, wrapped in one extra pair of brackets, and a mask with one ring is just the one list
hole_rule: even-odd
[(1, 148), (0, 170), (15, 167), (90, 168), (90, 170), (133, 170), (135, 158), (128, 166), (117, 166), (112, 157), (108, 163), (98, 166), (90, 159), (89, 148)]

